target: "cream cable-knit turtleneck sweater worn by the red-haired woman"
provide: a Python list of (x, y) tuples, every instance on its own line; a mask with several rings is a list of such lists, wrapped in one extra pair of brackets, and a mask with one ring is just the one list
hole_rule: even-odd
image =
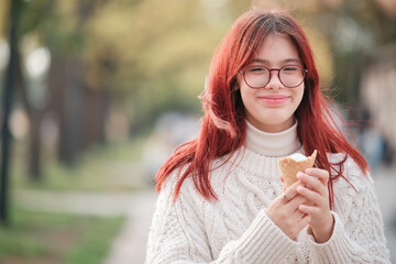
[[(153, 217), (147, 264), (166, 263), (391, 263), (373, 180), (351, 160), (334, 187), (334, 229), (323, 244), (302, 230), (290, 240), (265, 208), (282, 193), (277, 161), (302, 152), (297, 124), (268, 134), (248, 123), (246, 144), (215, 161), (211, 185), (218, 200), (207, 201), (187, 178), (175, 202), (174, 172), (165, 182)], [(331, 161), (341, 154), (329, 154)]]

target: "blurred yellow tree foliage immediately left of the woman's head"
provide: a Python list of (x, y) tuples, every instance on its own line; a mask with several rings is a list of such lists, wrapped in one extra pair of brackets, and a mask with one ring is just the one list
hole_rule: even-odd
[(114, 100), (128, 109), (132, 131), (146, 128), (164, 111), (198, 112), (197, 95), (204, 89), (211, 55), (232, 20), (249, 4), (109, 1), (87, 28), (88, 82), (109, 73), (98, 67), (96, 54), (108, 54), (117, 62), (107, 79), (116, 88)]

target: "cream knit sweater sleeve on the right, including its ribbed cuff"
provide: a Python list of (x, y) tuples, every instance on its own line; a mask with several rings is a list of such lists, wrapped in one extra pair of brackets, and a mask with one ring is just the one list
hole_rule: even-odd
[(334, 228), (330, 240), (318, 244), (309, 237), (312, 263), (391, 263), (373, 180), (370, 175), (360, 175), (359, 182), (353, 182), (356, 190), (349, 187), (348, 195), (338, 198), (342, 199), (339, 205), (348, 207), (339, 208), (340, 213), (332, 212)]

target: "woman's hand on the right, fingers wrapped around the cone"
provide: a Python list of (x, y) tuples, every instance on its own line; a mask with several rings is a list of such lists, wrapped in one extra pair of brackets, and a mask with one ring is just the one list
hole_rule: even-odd
[(320, 168), (308, 168), (305, 173), (298, 173), (297, 177), (300, 182), (296, 187), (297, 194), (307, 199), (298, 209), (309, 216), (309, 227), (316, 242), (324, 243), (330, 239), (334, 226), (329, 206), (329, 173)]

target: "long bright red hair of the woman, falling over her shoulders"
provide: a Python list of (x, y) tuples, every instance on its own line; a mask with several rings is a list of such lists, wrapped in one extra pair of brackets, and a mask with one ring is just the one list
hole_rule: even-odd
[[(330, 206), (333, 207), (333, 182), (343, 177), (348, 155), (366, 174), (367, 163), (342, 134), (332, 117), (330, 98), (319, 89), (319, 75), (308, 40), (297, 22), (284, 11), (251, 10), (242, 14), (218, 46), (202, 95), (205, 116), (197, 139), (178, 148), (157, 172), (156, 189), (176, 168), (186, 168), (175, 186), (174, 199), (182, 184), (193, 177), (197, 190), (208, 200), (217, 199), (210, 185), (211, 162), (238, 151), (245, 140), (245, 111), (238, 89), (239, 70), (256, 56), (255, 51), (268, 34), (288, 36), (296, 45), (301, 62), (308, 69), (302, 100), (295, 112), (297, 133), (306, 153), (318, 151), (316, 166), (328, 170)], [(341, 120), (341, 119), (340, 119)], [(326, 153), (345, 153), (343, 161), (331, 164)], [(180, 173), (180, 170), (179, 170)]]

